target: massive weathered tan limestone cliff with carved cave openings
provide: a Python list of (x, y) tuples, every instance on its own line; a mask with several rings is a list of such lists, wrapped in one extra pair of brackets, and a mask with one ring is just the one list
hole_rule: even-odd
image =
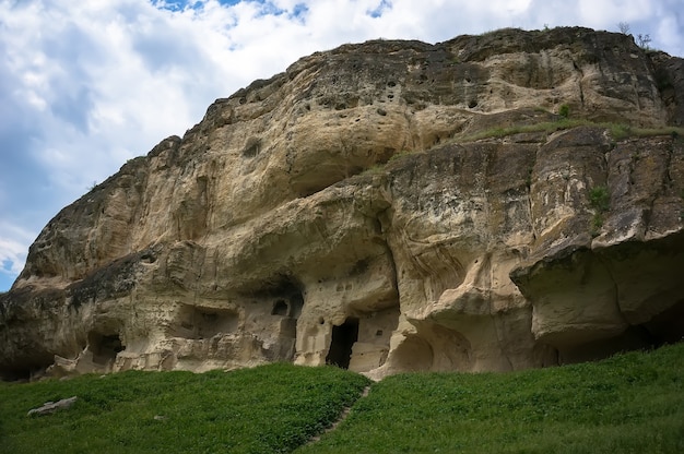
[(684, 142), (636, 128), (683, 124), (683, 68), (586, 28), (304, 58), (44, 228), (0, 296), (0, 372), (381, 378), (675, 342)]

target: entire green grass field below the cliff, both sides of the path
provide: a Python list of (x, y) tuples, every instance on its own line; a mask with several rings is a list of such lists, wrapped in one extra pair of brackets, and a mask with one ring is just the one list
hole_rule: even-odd
[(0, 452), (684, 453), (684, 343), (543, 370), (400, 374), (361, 397), (369, 384), (282, 363), (3, 383)]

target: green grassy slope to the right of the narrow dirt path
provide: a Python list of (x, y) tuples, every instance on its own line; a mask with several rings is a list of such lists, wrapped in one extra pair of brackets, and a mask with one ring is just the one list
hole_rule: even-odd
[(684, 343), (507, 374), (401, 374), (297, 453), (684, 453)]

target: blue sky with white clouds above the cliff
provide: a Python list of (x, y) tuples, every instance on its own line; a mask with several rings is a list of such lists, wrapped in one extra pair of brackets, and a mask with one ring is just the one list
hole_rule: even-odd
[(0, 0), (0, 291), (62, 207), (300, 57), (620, 23), (684, 57), (684, 0)]

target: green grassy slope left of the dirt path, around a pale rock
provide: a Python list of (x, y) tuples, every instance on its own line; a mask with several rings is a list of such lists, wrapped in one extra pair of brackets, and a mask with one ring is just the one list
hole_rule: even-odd
[[(130, 371), (0, 384), (0, 452), (290, 452), (334, 421), (367, 383), (332, 367), (279, 363), (229, 373)], [(72, 395), (79, 399), (68, 410), (26, 416)]]

